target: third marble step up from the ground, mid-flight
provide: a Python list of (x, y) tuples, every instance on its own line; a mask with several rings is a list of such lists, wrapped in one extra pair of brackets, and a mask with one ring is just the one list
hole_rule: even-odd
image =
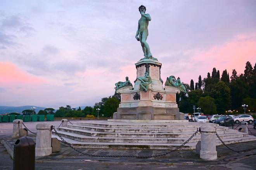
[[(85, 136), (95, 136), (95, 137), (139, 137), (139, 138), (181, 138), (181, 137), (190, 137), (194, 132), (183, 132), (183, 133), (115, 133), (115, 132), (97, 132), (97, 131), (88, 131), (84, 129), (73, 129), (73, 128), (58, 128), (59, 131), (65, 131), (74, 134), (82, 134)], [(236, 130), (222, 130), (217, 131), (218, 134), (228, 134), (228, 133), (237, 133)], [(200, 133), (197, 135), (200, 136)]]

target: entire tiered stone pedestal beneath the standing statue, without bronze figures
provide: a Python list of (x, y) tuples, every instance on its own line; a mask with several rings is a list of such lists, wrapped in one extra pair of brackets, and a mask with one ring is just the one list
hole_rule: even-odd
[(180, 90), (175, 87), (164, 86), (161, 79), (159, 61), (142, 59), (135, 63), (137, 78), (149, 73), (152, 83), (147, 92), (139, 89), (140, 81), (135, 80), (134, 87), (123, 87), (117, 90), (121, 95), (121, 103), (115, 115), (116, 119), (139, 120), (173, 120), (184, 119), (180, 116), (176, 103), (176, 93)]

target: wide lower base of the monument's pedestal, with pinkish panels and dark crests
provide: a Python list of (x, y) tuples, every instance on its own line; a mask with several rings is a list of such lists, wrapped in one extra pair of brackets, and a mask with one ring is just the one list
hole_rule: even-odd
[(164, 90), (147, 92), (132, 90), (132, 87), (123, 87), (118, 90), (121, 103), (114, 113), (114, 119), (135, 120), (182, 120), (184, 114), (179, 112), (176, 104), (175, 87), (164, 87)]

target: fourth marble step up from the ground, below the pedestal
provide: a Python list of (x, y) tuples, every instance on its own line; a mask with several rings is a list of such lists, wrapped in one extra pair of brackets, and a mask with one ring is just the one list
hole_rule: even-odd
[[(182, 132), (195, 132), (197, 128), (175, 128), (175, 129), (149, 129), (149, 128), (102, 128), (93, 126), (82, 126), (82, 125), (68, 125), (68, 128), (83, 129), (88, 131), (96, 132), (116, 132), (116, 133), (182, 133)], [(227, 127), (217, 127), (218, 130), (227, 130)]]

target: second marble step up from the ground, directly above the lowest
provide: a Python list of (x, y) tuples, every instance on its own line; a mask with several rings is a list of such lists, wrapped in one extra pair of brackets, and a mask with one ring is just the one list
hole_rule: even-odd
[[(58, 133), (66, 138), (74, 139), (81, 142), (121, 142), (121, 143), (184, 143), (189, 139), (187, 138), (131, 138), (131, 137), (94, 137), (85, 136), (81, 134), (74, 134), (69, 132), (58, 131)], [(238, 138), (248, 136), (245, 133), (237, 134), (219, 134), (221, 139)], [(201, 139), (201, 136), (194, 136), (189, 142), (197, 142)], [(217, 136), (216, 136), (217, 139)]]

